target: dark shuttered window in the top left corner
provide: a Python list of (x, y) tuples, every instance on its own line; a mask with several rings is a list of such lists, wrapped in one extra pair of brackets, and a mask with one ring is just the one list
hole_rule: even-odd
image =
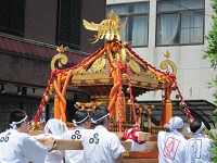
[(1, 1), (0, 9), (0, 32), (24, 36), (25, 0)]

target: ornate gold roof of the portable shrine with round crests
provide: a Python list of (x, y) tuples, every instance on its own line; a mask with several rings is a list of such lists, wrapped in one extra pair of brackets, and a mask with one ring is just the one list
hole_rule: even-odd
[[(112, 55), (114, 62), (118, 62), (118, 54), (113, 47)], [(89, 62), (90, 59), (86, 60)], [(114, 84), (112, 76), (113, 66), (108, 59), (107, 52), (95, 58), (92, 63), (84, 68), (82, 62), (80, 66), (74, 70), (74, 76), (71, 79), (69, 86), (85, 90), (91, 96), (108, 96)], [(126, 65), (130, 77), (133, 96), (139, 96), (149, 90), (157, 90), (165, 87), (165, 82), (151, 71), (150, 67), (137, 58), (126, 54)], [(122, 74), (124, 90), (128, 87), (128, 79), (125, 73)]]

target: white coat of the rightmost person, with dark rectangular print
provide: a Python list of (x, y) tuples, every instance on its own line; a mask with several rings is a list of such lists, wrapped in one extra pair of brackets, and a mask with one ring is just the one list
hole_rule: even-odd
[(189, 141), (189, 145), (192, 147), (192, 150), (195, 153), (195, 162), (196, 163), (209, 163), (210, 162), (212, 139), (203, 137), (201, 134), (196, 134), (188, 141)]

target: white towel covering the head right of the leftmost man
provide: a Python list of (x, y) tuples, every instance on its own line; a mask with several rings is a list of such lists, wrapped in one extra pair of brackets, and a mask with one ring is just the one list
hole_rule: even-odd
[(49, 130), (52, 133), (52, 135), (60, 136), (63, 133), (67, 131), (68, 128), (62, 121), (58, 118), (51, 118), (47, 122), (43, 131), (44, 134), (48, 134)]

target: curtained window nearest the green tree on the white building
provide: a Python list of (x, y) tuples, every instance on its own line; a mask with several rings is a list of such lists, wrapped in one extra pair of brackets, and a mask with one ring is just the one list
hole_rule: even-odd
[(156, 46), (203, 43), (204, 0), (157, 1)]

